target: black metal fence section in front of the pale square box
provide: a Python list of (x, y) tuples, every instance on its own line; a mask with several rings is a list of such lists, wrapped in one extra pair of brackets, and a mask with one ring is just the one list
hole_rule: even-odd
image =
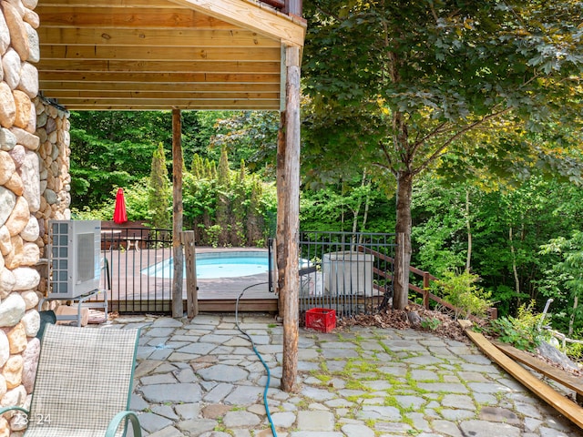
[(393, 298), (394, 234), (301, 232), (300, 311), (373, 313)]

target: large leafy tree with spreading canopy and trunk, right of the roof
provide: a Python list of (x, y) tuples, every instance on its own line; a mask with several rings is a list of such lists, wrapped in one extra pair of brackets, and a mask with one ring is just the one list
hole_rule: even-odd
[[(523, 168), (565, 163), (525, 132), (581, 123), (577, 1), (310, 0), (303, 66), (309, 159), (327, 176), (373, 164), (396, 183), (394, 308), (407, 302), (414, 180), (447, 154), (496, 164), (489, 137)], [(502, 137), (502, 136), (499, 136)], [(498, 139), (498, 138), (496, 138)], [(566, 144), (563, 149), (568, 149)], [(464, 159), (450, 164), (463, 163)], [(506, 161), (505, 161), (506, 162)], [(573, 166), (555, 167), (571, 171)], [(323, 167), (328, 167), (326, 171)], [(507, 168), (500, 168), (505, 174)], [(578, 171), (573, 171), (578, 178)]]

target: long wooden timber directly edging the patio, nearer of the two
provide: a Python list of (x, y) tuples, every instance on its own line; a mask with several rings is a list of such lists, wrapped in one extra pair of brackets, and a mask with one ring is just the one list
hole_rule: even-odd
[[(507, 371), (518, 382), (527, 387), (528, 390), (536, 394), (540, 399), (546, 401), (557, 412), (560, 412), (569, 421), (575, 423), (579, 428), (583, 429), (583, 408), (578, 406), (574, 401), (568, 400), (564, 395), (555, 391), (547, 383), (540, 381), (530, 371), (510, 358), (503, 351), (496, 348), (489, 340), (486, 339), (479, 332), (472, 330), (472, 322), (470, 320), (458, 320), (460, 326), (464, 328), (465, 334), (470, 340), (474, 341), (476, 346), (483, 351), (486, 356), (496, 362), (502, 369)], [(563, 383), (563, 381), (561, 381)]]

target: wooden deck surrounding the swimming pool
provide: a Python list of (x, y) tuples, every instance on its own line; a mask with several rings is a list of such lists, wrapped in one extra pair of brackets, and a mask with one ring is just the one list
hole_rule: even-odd
[[(254, 248), (197, 248), (198, 253), (216, 251), (257, 251)], [(111, 290), (107, 293), (110, 310), (119, 312), (170, 312), (172, 279), (148, 276), (144, 269), (171, 257), (169, 248), (104, 252), (111, 271)], [(266, 251), (267, 256), (267, 251)], [(278, 299), (269, 291), (268, 274), (240, 278), (198, 279), (199, 311), (233, 312), (238, 298), (239, 311), (277, 312)], [(105, 285), (102, 275), (102, 286)], [(185, 280), (186, 290), (186, 280)], [(243, 291), (244, 290), (244, 291)], [(241, 295), (242, 293), (242, 295)], [(186, 309), (186, 291), (183, 294)]]

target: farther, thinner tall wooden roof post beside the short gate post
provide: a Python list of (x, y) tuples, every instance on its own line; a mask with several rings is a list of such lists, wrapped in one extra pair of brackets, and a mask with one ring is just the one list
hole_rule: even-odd
[(182, 308), (182, 270), (184, 253), (182, 251), (182, 123), (180, 110), (172, 109), (172, 258), (174, 272), (172, 277), (172, 317), (184, 315)]

